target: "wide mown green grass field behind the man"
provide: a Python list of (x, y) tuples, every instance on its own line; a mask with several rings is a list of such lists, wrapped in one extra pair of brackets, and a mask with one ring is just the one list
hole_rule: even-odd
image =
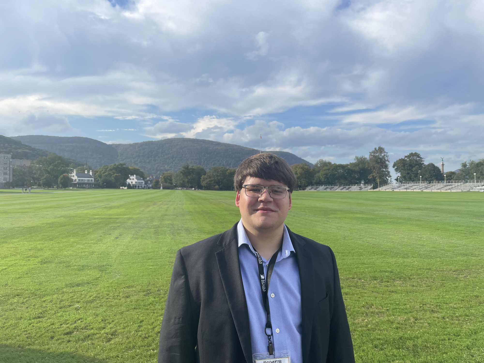
[[(294, 193), (287, 226), (333, 248), (357, 362), (484, 363), (483, 207)], [(0, 362), (156, 362), (175, 252), (238, 219), (233, 192), (1, 194)]]

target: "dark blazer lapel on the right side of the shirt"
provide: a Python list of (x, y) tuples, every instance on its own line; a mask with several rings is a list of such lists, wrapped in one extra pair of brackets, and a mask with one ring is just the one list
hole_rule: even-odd
[(292, 233), (289, 228), (287, 231), (298, 261), (299, 279), (301, 280), (302, 361), (308, 362), (315, 307), (313, 260), (304, 246), (306, 242)]

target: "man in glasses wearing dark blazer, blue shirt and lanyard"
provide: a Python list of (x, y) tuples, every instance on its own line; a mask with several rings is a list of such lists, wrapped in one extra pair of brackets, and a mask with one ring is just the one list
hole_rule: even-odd
[(158, 363), (354, 362), (333, 251), (284, 225), (295, 184), (276, 155), (242, 162), (241, 221), (177, 252)]

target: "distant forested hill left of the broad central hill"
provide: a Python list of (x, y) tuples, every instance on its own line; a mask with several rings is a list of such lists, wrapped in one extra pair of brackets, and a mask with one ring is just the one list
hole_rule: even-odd
[(27, 135), (12, 138), (34, 148), (45, 149), (84, 163), (87, 161), (94, 168), (116, 163), (118, 159), (115, 148), (89, 137)]

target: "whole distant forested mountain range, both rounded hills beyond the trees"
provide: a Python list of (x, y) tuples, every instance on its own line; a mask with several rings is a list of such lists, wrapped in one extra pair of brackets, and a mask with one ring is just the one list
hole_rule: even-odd
[[(243, 159), (257, 154), (258, 150), (240, 145), (194, 139), (169, 138), (134, 144), (107, 145), (88, 137), (15, 136), (34, 147), (55, 152), (64, 157), (86, 161), (94, 168), (113, 163), (139, 167), (147, 174), (159, 175), (165, 171), (178, 171), (184, 165), (199, 165), (209, 170), (212, 166), (237, 167)], [(292, 164), (311, 163), (286, 151), (271, 151)]]

